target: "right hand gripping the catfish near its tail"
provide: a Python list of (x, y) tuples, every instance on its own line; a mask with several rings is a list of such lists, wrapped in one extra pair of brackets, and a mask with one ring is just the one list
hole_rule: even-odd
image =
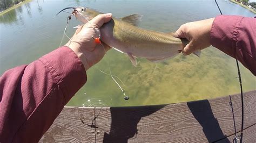
[(211, 46), (211, 28), (215, 18), (183, 24), (174, 33), (176, 38), (186, 38), (190, 41), (183, 49), (184, 55)]

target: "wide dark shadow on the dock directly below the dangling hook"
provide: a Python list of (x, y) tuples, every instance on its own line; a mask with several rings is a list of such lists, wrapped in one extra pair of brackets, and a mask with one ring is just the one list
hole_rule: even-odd
[(103, 142), (127, 142), (136, 138), (140, 119), (164, 108), (166, 105), (110, 108), (111, 128), (104, 133)]

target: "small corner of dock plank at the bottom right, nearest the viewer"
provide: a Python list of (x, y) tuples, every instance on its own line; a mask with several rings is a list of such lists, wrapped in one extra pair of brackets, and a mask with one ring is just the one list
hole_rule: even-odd
[[(237, 135), (240, 135), (240, 133), (241, 132), (238, 132)], [(229, 137), (227, 137), (227, 139), (230, 142), (233, 142), (235, 139), (235, 134), (230, 135)], [(219, 140), (217, 142), (220, 143), (220, 142), (225, 142), (225, 141), (223, 139), (223, 140)], [(237, 140), (237, 142), (239, 142), (239, 140)], [(256, 142), (256, 124), (246, 128), (243, 131), (242, 142)]]

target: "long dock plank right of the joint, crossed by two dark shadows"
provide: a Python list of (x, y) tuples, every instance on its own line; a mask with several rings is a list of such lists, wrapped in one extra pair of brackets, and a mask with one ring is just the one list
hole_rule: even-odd
[[(256, 91), (244, 93), (244, 127), (256, 123), (255, 95)], [(236, 129), (240, 131), (241, 98), (231, 97)], [(96, 108), (96, 115), (99, 142), (213, 142), (234, 133), (229, 96), (161, 106)]]

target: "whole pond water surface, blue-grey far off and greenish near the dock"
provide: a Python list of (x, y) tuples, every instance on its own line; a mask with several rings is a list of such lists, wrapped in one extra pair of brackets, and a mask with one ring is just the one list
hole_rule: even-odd
[[(115, 17), (133, 13), (143, 15), (139, 27), (174, 32), (186, 22), (219, 15), (214, 1), (32, 1), (0, 16), (0, 75), (5, 70), (28, 64), (56, 49), (61, 41), (68, 13), (59, 10), (70, 6), (88, 6)], [(254, 17), (254, 14), (231, 2), (219, 1), (226, 15)], [(79, 22), (73, 17), (68, 35)], [(63, 44), (68, 41), (64, 39)], [(118, 76), (123, 94), (109, 75)], [(87, 83), (68, 105), (72, 106), (133, 106), (194, 101), (235, 94), (240, 91), (235, 60), (214, 47), (202, 51), (201, 58), (178, 55), (160, 63), (138, 59), (133, 67), (129, 58), (111, 50), (97, 65), (87, 71)], [(256, 89), (256, 79), (242, 65), (244, 91)]]

